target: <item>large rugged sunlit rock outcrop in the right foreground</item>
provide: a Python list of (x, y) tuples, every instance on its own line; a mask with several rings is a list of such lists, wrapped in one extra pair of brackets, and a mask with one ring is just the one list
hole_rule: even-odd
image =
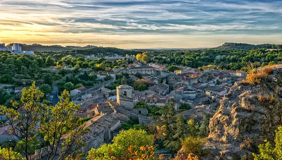
[[(209, 121), (208, 159), (252, 159), (257, 145), (282, 125), (282, 65), (259, 84), (235, 83)], [(206, 159), (206, 158), (205, 158)]]

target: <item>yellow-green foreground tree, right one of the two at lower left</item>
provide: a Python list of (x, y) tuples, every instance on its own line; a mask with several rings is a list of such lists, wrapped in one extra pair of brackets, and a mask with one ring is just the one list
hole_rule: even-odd
[[(45, 114), (40, 119), (40, 132), (44, 135), (45, 148), (50, 148), (46, 149), (47, 159), (54, 159), (57, 154), (59, 156), (55, 159), (59, 160), (68, 155), (75, 155), (78, 148), (85, 143), (81, 138), (88, 129), (81, 118), (75, 115), (80, 106), (70, 100), (69, 92), (64, 90), (55, 106), (44, 107)], [(60, 150), (58, 144), (61, 144)]]

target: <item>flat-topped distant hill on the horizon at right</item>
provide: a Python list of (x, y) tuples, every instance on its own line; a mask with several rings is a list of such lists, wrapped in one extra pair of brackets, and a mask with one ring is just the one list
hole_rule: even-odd
[(266, 48), (266, 49), (276, 49), (282, 48), (281, 44), (247, 44), (247, 43), (233, 43), (225, 42), (224, 44), (217, 46), (216, 48), (222, 49), (251, 49), (251, 48)]

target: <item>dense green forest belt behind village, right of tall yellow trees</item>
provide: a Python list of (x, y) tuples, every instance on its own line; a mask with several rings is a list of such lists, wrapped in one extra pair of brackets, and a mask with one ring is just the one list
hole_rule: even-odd
[(258, 67), (281, 63), (282, 60), (281, 50), (263, 48), (156, 51), (152, 52), (152, 55), (152, 59), (159, 64), (184, 65), (193, 68), (202, 68), (209, 65), (208, 67), (231, 70), (246, 70), (246, 62), (255, 62)]

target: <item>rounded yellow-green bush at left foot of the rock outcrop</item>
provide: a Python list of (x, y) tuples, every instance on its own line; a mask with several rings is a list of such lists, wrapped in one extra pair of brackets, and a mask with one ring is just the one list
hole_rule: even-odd
[(198, 155), (202, 152), (202, 145), (205, 143), (205, 139), (189, 136), (182, 140), (181, 143), (185, 152)]

